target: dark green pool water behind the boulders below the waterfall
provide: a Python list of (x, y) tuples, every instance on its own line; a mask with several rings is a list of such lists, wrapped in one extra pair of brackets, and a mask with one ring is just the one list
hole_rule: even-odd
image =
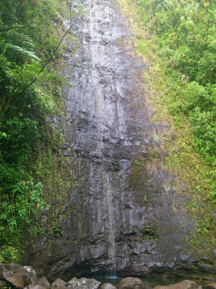
[[(116, 288), (118, 288), (119, 282), (123, 279), (120, 277), (95, 277), (96, 280), (104, 283), (113, 284)], [(168, 286), (182, 282), (184, 279), (177, 279), (177, 278), (158, 278), (158, 277), (147, 277), (147, 278), (140, 278), (143, 283), (145, 284), (145, 289), (152, 289), (155, 286)], [(192, 280), (192, 279), (188, 279)], [(196, 282), (197, 284), (201, 285), (204, 288), (205, 285), (212, 283), (212, 281), (205, 281), (199, 279), (193, 279), (192, 281)]]

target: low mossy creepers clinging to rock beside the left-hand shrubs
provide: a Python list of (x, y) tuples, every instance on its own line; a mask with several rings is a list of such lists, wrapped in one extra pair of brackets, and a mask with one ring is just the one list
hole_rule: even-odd
[[(67, 157), (70, 149), (60, 149), (60, 144), (64, 142), (63, 135), (52, 125), (50, 131), (44, 130), (43, 143), (41, 143), (35, 154), (34, 174), (35, 179), (41, 179), (44, 185), (44, 195), (46, 202), (50, 205), (49, 211), (41, 214), (38, 222), (41, 224), (42, 231), (34, 228), (34, 238), (37, 233), (49, 236), (50, 240), (57, 238), (61, 229), (61, 218), (69, 214), (65, 209), (62, 211), (67, 195), (77, 186), (76, 175), (71, 168), (72, 157)], [(60, 235), (59, 235), (60, 236)]]

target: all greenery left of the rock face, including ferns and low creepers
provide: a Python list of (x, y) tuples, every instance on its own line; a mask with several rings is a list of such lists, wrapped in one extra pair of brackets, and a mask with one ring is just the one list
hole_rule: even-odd
[(64, 117), (62, 86), (71, 85), (57, 66), (67, 42), (53, 53), (66, 32), (64, 17), (76, 21), (83, 10), (78, 2), (70, 5), (0, 3), (0, 263), (20, 262), (23, 234), (32, 241), (58, 230), (54, 203), (62, 205), (63, 192), (75, 185), (54, 125), (56, 115)]

